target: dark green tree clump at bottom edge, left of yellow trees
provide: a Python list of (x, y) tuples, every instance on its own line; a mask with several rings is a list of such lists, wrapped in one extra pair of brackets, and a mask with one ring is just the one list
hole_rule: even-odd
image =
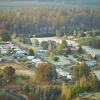
[(30, 100), (59, 100), (61, 89), (54, 86), (49, 87), (35, 87), (29, 93)]

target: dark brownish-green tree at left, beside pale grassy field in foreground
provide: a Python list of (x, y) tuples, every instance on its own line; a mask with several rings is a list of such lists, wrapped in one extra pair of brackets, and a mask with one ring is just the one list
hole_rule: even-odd
[(5, 67), (3, 70), (3, 74), (4, 74), (4, 79), (11, 82), (15, 76), (15, 68), (13, 68), (12, 66)]

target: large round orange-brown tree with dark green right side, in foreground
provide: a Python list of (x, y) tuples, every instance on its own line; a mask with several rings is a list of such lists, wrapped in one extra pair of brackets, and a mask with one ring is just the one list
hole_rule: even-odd
[(35, 68), (35, 79), (38, 84), (52, 83), (57, 77), (56, 70), (48, 63), (38, 63)]

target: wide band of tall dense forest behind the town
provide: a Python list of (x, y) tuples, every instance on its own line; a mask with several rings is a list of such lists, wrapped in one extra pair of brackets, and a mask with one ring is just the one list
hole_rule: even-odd
[(100, 29), (100, 8), (34, 6), (0, 11), (0, 28), (19, 34), (60, 33)]

